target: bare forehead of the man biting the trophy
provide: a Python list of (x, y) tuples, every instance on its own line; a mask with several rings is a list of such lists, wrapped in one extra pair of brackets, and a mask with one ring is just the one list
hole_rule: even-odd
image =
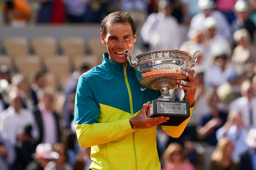
[(132, 35), (132, 28), (129, 23), (107, 23), (107, 36)]

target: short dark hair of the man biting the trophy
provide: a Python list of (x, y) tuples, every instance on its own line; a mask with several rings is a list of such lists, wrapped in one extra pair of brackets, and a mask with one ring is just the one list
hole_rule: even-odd
[(132, 34), (135, 35), (136, 33), (134, 21), (132, 19), (132, 16), (128, 12), (112, 12), (101, 21), (100, 33), (102, 33), (104, 37), (106, 37), (107, 34), (108, 23), (129, 23), (132, 28)]

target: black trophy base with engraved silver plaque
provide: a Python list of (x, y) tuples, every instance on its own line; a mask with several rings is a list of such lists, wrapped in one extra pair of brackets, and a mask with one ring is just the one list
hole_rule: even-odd
[(153, 100), (149, 117), (169, 116), (167, 122), (159, 126), (179, 126), (190, 116), (190, 106), (187, 101)]

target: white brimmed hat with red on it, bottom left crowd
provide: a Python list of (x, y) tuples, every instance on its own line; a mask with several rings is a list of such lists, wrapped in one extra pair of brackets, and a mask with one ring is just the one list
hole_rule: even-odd
[(52, 151), (52, 144), (38, 144), (36, 146), (36, 153), (33, 154), (34, 158), (44, 158), (44, 159), (59, 159), (60, 155), (58, 152)]

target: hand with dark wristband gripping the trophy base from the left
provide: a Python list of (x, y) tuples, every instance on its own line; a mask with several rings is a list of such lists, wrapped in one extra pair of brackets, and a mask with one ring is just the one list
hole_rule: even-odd
[(130, 119), (130, 121), (133, 124), (133, 129), (136, 130), (136, 129), (152, 128), (156, 125), (159, 125), (169, 120), (169, 117), (164, 117), (164, 116), (149, 118), (147, 116), (147, 109), (150, 108), (149, 104), (150, 104), (150, 101), (148, 101), (148, 103), (145, 103), (142, 109), (140, 110), (140, 112), (135, 117)]

